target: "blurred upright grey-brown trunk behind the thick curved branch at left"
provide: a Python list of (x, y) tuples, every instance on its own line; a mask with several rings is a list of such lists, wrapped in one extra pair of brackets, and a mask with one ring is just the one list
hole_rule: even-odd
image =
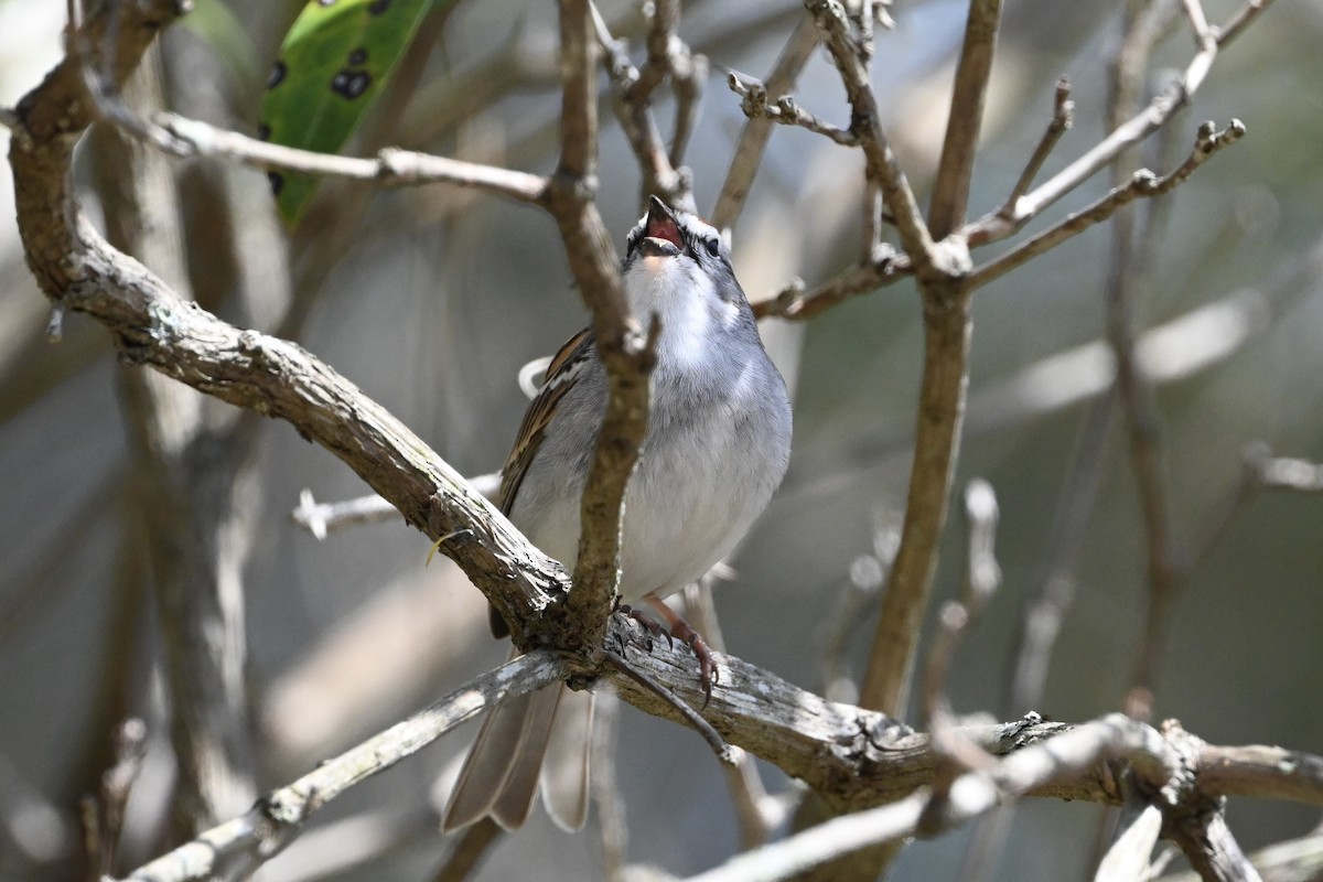
[[(153, 44), (124, 85), (118, 112), (140, 116), (161, 107), (160, 75), (160, 44)], [(97, 135), (90, 152), (107, 238), (191, 299), (172, 168), (122, 130)], [(214, 402), (156, 373), (120, 372), (116, 380), (131, 504), (144, 525), (135, 538), (146, 542), (164, 637), (180, 791), (173, 809), (197, 832), (255, 795), (242, 581), (258, 504), (255, 422), (250, 414), (217, 418), (206, 410)]]

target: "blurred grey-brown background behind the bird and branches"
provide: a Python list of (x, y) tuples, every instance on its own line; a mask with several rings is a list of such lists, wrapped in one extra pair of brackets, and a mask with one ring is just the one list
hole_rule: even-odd
[[(425, 22), (421, 49), (353, 149), (398, 144), (549, 172), (558, 112), (554, 8), (521, 5), (459, 3)], [(1007, 4), (971, 216), (1005, 198), (1050, 116), (1058, 77), (1074, 86), (1076, 126), (1040, 180), (1101, 138), (1122, 5)], [(1215, 22), (1238, 8), (1226, 0), (1207, 7)], [(196, 13), (164, 38), (167, 104), (255, 131), (266, 71), (298, 8), (197, 0)], [(639, 63), (638, 7), (602, 8)], [(877, 36), (873, 81), (884, 123), (921, 192), (941, 148), (964, 11), (963, 3), (900, 0), (896, 28)], [(62, 13), (64, 4), (0, 1), (0, 102), (12, 106), (61, 57)], [(802, 15), (792, 0), (687, 4), (680, 36), (712, 61), (685, 157), (700, 213), (713, 208), (744, 123), (721, 66), (766, 77)], [(1249, 130), (1160, 205), (1140, 210), (1152, 234), (1135, 317), (1140, 328), (1170, 332), (1150, 357), (1164, 377), (1156, 405), (1171, 520), (1177, 538), (1193, 545), (1221, 522), (1250, 443), (1323, 460), (1320, 40), (1323, 4), (1274, 5), (1218, 57), (1193, 106), (1134, 159), (1156, 171), (1174, 167), (1204, 119), (1224, 126), (1237, 116)], [(1148, 87), (1166, 83), (1191, 52), (1177, 19)], [(795, 97), (828, 122), (848, 122), (840, 81), (822, 53)], [(658, 118), (668, 127), (668, 100)], [(599, 205), (620, 247), (640, 212), (639, 172), (609, 102), (602, 119)], [(83, 145), (77, 169), (94, 220), (116, 198), (98, 144)], [(554, 352), (586, 321), (548, 216), (446, 186), (373, 193), (327, 185), (286, 237), (261, 172), (204, 160), (171, 168), (177, 212), (165, 210), (181, 231), (180, 287), (229, 321), (298, 339), (463, 473), (500, 467), (525, 407), (519, 368)], [(857, 259), (860, 169), (853, 152), (820, 136), (773, 134), (733, 230), (736, 270), (751, 300), (796, 276), (811, 287)], [(12, 201), (3, 177), (3, 198)], [(1097, 176), (1028, 233), (1105, 188), (1106, 175)], [(1084, 721), (1115, 710), (1129, 686), (1146, 611), (1144, 528), (1118, 413), (1097, 460), (1078, 551), (1065, 562), (1073, 604), (1044, 692), (1032, 707), (1007, 698), (1019, 620), (1060, 549), (1064, 488), (1081, 439), (1097, 438), (1090, 426), (1107, 382), (1097, 341), (1110, 254), (1110, 227), (1097, 227), (975, 299), (957, 492), (974, 476), (996, 489), (1004, 586), (957, 656), (949, 692), (959, 713), (1016, 718), (1037, 710)], [(1220, 311), (1205, 309), (1217, 304)], [(135, 394), (101, 328), (67, 316), (62, 341), (52, 345), (46, 321), (17, 230), (0, 223), (5, 879), (83, 873), (79, 797), (99, 785), (112, 764), (112, 733), (131, 715), (147, 723), (147, 752), (118, 871), (175, 841), (163, 670), (169, 647), (153, 611), (142, 514), (149, 483), (131, 440), (140, 431)], [(905, 499), (922, 353), (918, 300), (901, 283), (810, 323), (770, 320), (763, 331), (794, 387), (795, 452), (781, 493), (733, 561), (737, 577), (717, 586), (714, 603), (729, 652), (848, 701), (849, 676), (861, 669), (872, 635), (867, 611), (876, 598), (867, 592), (876, 591), (877, 558), (894, 546)], [(233, 415), (208, 409), (202, 422), (229, 427)], [(425, 569), (427, 541), (402, 522), (320, 542), (292, 522), (306, 488), (325, 501), (366, 492), (335, 458), (274, 421), (253, 422), (238, 436), (245, 461), (225, 472), (237, 475), (238, 489), (221, 496), (234, 514), (225, 547), (235, 555), (230, 582), (241, 586), (246, 628), (239, 689), (249, 722), (239, 735), (257, 770), (249, 787), (263, 792), (496, 665), (507, 649), (490, 640), (478, 591), (447, 561)], [(1088, 450), (1082, 456), (1089, 461)], [(957, 504), (938, 600), (959, 587), (963, 536)], [(1156, 719), (1176, 717), (1215, 743), (1323, 752), (1320, 540), (1318, 495), (1265, 492), (1226, 521), (1184, 582)], [(860, 594), (865, 612), (851, 612), (849, 598)], [(437, 812), (474, 730), (328, 807), (263, 878), (431, 878), (448, 849)], [(770, 789), (790, 785), (774, 768), (762, 771)], [(628, 862), (685, 875), (740, 849), (724, 778), (692, 733), (622, 707), (615, 774)], [(251, 791), (239, 791), (234, 811), (251, 800)], [(1101, 817), (1093, 805), (1027, 801), (1004, 852), (1012, 857), (986, 866), (986, 878), (1084, 874)], [(1229, 820), (1249, 849), (1303, 834), (1319, 819), (1295, 805), (1238, 800)], [(968, 838), (959, 830), (913, 845), (894, 878), (955, 878)], [(537, 811), (474, 878), (607, 878), (613, 860), (591, 820), (586, 833), (565, 836)]]

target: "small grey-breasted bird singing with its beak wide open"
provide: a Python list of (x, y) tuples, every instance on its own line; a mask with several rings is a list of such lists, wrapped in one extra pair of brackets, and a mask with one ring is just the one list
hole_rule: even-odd
[[(697, 216), (651, 197), (626, 238), (620, 278), (631, 313), (659, 324), (648, 428), (624, 493), (620, 598), (646, 602), (695, 647), (710, 689), (701, 639), (663, 598), (729, 555), (767, 506), (790, 460), (790, 397), (725, 241)], [(501, 512), (569, 571), (607, 398), (606, 368), (583, 329), (548, 365), (501, 469)], [(497, 637), (508, 633), (495, 610), (491, 623)], [(466, 758), (442, 829), (483, 817), (521, 826), (540, 776), (552, 820), (581, 829), (591, 706), (590, 692), (564, 685), (501, 701)]]

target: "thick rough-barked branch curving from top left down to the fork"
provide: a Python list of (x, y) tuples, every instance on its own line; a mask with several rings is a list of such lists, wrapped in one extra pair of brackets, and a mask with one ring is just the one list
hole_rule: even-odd
[[(176, 11), (132, 4), (116, 21), (116, 75), (124, 77)], [(102, 42), (106, 13), (87, 22)], [(77, 135), (91, 122), (77, 62), (65, 60), (20, 103), (11, 145), (19, 229), (28, 263), (58, 307), (85, 312), (114, 337), (127, 364), (143, 364), (194, 389), (287, 419), (344, 460), (484, 588), (507, 621), (528, 620), (564, 587), (564, 573), (532, 547), (463, 477), (400, 421), (299, 346), (239, 331), (179, 300), (136, 261), (78, 217), (69, 180)]]

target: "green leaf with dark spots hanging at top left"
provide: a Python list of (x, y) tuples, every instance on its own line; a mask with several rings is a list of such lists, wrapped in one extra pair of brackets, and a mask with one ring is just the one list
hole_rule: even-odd
[[(437, 0), (311, 0), (284, 37), (262, 98), (261, 136), (335, 153), (357, 128)], [(291, 229), (318, 179), (271, 172)]]

